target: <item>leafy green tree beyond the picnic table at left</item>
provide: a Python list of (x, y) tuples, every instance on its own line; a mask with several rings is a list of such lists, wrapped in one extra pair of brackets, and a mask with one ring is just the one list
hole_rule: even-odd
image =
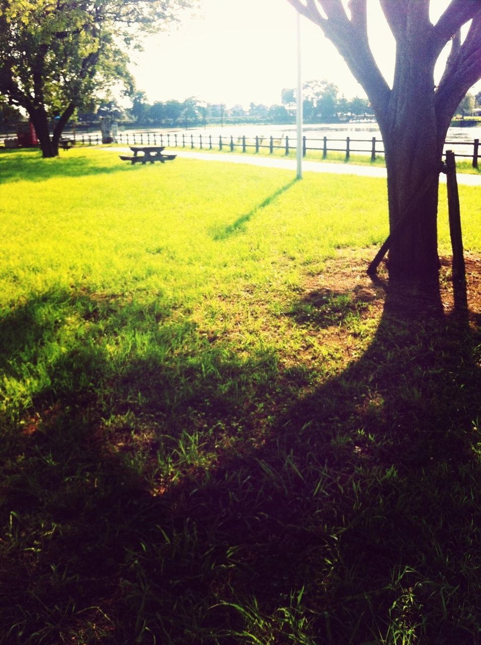
[[(129, 46), (190, 0), (0, 0), (0, 94), (28, 113), (44, 157), (76, 107), (115, 83), (133, 90)], [(55, 119), (52, 138), (50, 122)]]

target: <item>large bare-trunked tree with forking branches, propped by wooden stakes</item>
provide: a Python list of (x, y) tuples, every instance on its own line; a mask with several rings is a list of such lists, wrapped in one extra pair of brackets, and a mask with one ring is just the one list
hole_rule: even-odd
[[(437, 275), (442, 149), (461, 99), (481, 78), (481, 1), (451, 0), (433, 24), (429, 0), (379, 0), (396, 41), (392, 87), (370, 48), (367, 0), (288, 2), (334, 43), (377, 118), (388, 171), (390, 275), (413, 280)], [(469, 21), (462, 41), (460, 30)], [(435, 64), (449, 41), (451, 53), (436, 86)]]

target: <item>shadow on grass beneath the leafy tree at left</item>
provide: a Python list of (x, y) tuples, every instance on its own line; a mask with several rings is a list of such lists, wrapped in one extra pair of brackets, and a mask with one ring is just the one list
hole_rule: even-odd
[(127, 167), (125, 163), (120, 162), (120, 159), (118, 159), (118, 165), (110, 165), (102, 163), (100, 159), (95, 159), (95, 157), (78, 154), (69, 157), (68, 153), (53, 159), (42, 159), (40, 152), (38, 156), (0, 153), (0, 164), (0, 185), (16, 181), (35, 183), (53, 177), (115, 174), (130, 169), (130, 164)]

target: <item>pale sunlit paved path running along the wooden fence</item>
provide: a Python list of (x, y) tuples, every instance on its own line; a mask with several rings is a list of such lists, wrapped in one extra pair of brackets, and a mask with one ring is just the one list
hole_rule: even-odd
[[(122, 148), (111, 148), (120, 152)], [(129, 150), (129, 148), (126, 148)], [(189, 159), (202, 159), (202, 161), (222, 161), (224, 163), (243, 163), (250, 166), (263, 166), (265, 168), (282, 168), (296, 172), (296, 159), (281, 159), (279, 157), (254, 157), (254, 155), (236, 155), (234, 153), (196, 152), (195, 150), (179, 150), (173, 148), (178, 157)], [(356, 166), (353, 163), (328, 163), (327, 161), (303, 160), (303, 172), (328, 172), (336, 175), (361, 175), (362, 177), (386, 178), (386, 168), (379, 166)], [(481, 186), (481, 175), (467, 175), (458, 172), (458, 184), (465, 186)], [(440, 182), (446, 183), (446, 175), (440, 175)]]

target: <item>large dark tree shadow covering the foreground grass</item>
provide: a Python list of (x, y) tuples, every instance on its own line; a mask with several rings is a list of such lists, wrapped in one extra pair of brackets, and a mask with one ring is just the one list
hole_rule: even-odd
[[(289, 315), (321, 333), (326, 293)], [(479, 317), (388, 288), (361, 359), (297, 401), (275, 356), (209, 342), (97, 355), (102, 388), (52, 385), (6, 433), (5, 642), (477, 642)]]

